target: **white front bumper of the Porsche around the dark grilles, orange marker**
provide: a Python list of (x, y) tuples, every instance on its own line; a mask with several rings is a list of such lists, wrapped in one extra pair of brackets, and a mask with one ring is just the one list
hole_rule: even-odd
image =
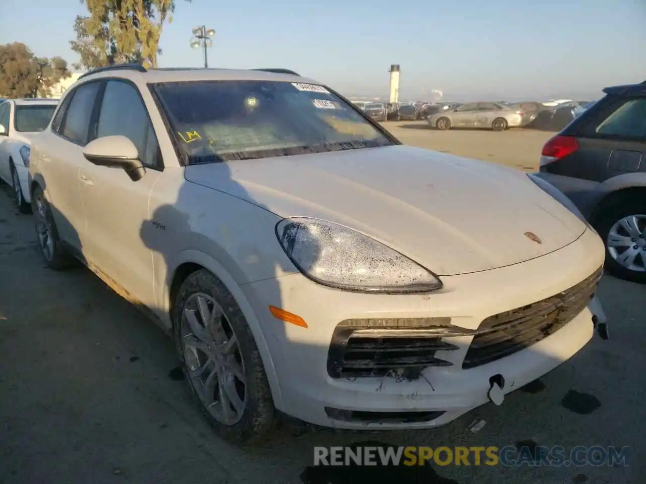
[[(522, 264), (443, 277), (443, 290), (432, 295), (375, 296), (340, 291), (307, 281), (300, 274), (249, 283), (242, 289), (259, 315), (271, 354), (265, 367), (277, 410), (339, 429), (426, 429), (444, 425), (492, 399), (499, 400), (500, 395), (490, 395), (494, 384), (505, 396), (583, 348), (594, 334), (593, 316), (597, 326), (605, 323), (596, 298), (581, 301), (576, 316), (536, 343), (528, 342), (494, 361), (483, 358), (477, 366), (464, 365), (483, 321), (546, 298), (558, 298), (567, 288), (596, 274), (604, 255), (599, 237), (586, 232), (575, 243)], [(307, 327), (273, 318), (267, 311), (269, 305), (297, 314)], [(437, 350), (435, 357), (450, 365), (423, 367), (419, 378), (396, 372), (368, 378), (330, 374), (335, 330), (343, 321), (366, 318), (451, 318), (452, 325), (468, 331), (463, 336), (442, 338), (452, 347)]]

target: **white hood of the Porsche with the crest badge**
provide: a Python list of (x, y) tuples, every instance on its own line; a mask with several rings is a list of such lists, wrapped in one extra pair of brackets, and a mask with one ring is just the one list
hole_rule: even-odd
[(440, 276), (543, 256), (586, 230), (522, 172), (403, 145), (193, 165), (185, 177), (354, 228)]

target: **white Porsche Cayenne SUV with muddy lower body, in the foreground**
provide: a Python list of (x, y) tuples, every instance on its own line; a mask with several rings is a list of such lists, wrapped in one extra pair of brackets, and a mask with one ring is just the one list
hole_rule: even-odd
[(605, 328), (603, 243), (551, 185), (404, 146), (287, 70), (92, 71), (30, 173), (47, 264), (153, 315), (234, 441), (280, 414), (443, 425)]

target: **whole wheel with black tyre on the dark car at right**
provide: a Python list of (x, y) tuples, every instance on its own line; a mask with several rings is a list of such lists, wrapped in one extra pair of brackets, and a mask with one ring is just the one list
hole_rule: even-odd
[(605, 268), (614, 276), (646, 284), (646, 199), (634, 194), (612, 199), (596, 217), (606, 247)]

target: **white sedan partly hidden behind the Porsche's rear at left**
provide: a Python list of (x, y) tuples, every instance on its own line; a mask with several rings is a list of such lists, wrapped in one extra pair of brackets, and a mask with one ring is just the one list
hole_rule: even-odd
[(32, 138), (47, 128), (57, 99), (8, 99), (0, 105), (0, 178), (14, 189), (21, 212), (30, 210), (29, 157)]

